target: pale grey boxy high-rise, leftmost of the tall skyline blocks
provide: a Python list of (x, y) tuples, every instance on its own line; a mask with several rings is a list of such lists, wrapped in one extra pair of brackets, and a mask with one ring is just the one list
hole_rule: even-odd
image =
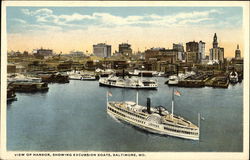
[(99, 43), (93, 45), (94, 55), (98, 57), (110, 57), (111, 56), (111, 45), (105, 43)]

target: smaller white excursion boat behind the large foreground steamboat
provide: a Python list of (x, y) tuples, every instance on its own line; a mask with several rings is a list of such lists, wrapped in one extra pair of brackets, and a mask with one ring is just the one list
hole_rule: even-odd
[(113, 75), (109, 76), (108, 78), (100, 78), (99, 85), (132, 89), (157, 89), (158, 87), (157, 81), (153, 79), (142, 79), (135, 77), (121, 78)]

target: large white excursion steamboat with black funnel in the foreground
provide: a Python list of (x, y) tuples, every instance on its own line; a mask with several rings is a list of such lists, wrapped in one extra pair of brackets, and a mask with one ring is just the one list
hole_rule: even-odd
[(172, 113), (169, 113), (163, 106), (151, 107), (150, 98), (147, 98), (147, 106), (139, 105), (138, 92), (136, 102), (109, 101), (110, 94), (107, 93), (107, 113), (113, 118), (148, 132), (199, 140), (200, 114), (198, 114), (198, 126), (180, 116), (174, 115), (174, 90), (172, 94)]

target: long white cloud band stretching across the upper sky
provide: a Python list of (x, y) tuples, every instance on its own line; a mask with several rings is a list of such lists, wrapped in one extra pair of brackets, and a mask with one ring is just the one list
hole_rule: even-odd
[(61, 14), (56, 15), (48, 8), (42, 8), (35, 11), (29, 9), (22, 9), (22, 12), (28, 16), (34, 16), (38, 23), (53, 23), (54, 25), (62, 25), (68, 27), (76, 27), (77, 24), (84, 24), (89, 26), (98, 24), (101, 26), (122, 26), (122, 25), (145, 25), (145, 26), (169, 26), (181, 25), (187, 23), (199, 23), (205, 20), (212, 20), (209, 18), (210, 14), (221, 13), (219, 10), (211, 9), (205, 11), (181, 12), (175, 15), (132, 15), (132, 16), (116, 16), (110, 13), (95, 12), (93, 14), (79, 14), (73, 13), (70, 15)]

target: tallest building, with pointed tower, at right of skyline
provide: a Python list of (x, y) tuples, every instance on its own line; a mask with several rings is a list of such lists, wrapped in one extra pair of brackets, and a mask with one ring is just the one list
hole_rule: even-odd
[(218, 46), (216, 33), (214, 34), (213, 48), (210, 49), (209, 60), (217, 63), (224, 61), (224, 48)]

